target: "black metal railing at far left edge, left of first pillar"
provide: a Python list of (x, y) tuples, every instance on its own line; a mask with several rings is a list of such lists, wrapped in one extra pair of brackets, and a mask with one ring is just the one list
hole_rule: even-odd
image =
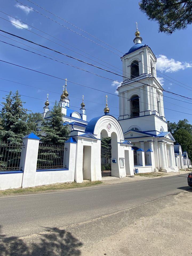
[(0, 171), (21, 170), (20, 159), (23, 144), (0, 142)]

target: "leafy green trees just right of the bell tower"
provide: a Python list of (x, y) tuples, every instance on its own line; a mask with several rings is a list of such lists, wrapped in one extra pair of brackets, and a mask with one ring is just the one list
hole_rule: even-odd
[(188, 156), (192, 159), (192, 125), (187, 119), (179, 120), (178, 123), (168, 123), (168, 131), (170, 131), (176, 141), (182, 147), (183, 151), (187, 151)]

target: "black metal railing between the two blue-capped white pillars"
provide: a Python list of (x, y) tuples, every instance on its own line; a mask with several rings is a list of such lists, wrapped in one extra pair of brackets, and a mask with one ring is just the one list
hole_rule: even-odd
[(65, 168), (66, 150), (64, 145), (39, 143), (37, 170)]

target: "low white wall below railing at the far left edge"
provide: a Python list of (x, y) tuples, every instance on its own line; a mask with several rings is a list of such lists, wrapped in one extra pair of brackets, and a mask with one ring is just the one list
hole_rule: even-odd
[(18, 189), (22, 184), (23, 173), (0, 174), (0, 190)]

